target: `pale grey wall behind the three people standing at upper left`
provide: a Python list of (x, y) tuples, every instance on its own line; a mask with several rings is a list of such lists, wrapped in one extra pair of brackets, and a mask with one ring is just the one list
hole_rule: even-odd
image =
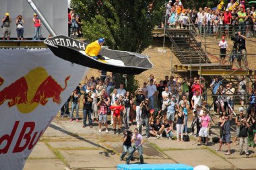
[[(34, 0), (49, 24), (53, 27), (56, 34), (67, 36), (67, 0)], [(11, 38), (16, 38), (16, 17), (22, 15), (24, 18), (24, 38), (32, 38), (34, 32), (34, 24), (32, 21), (34, 11), (26, 0), (1, 0), (0, 1), (0, 17), (3, 19), (5, 13), (8, 12), (11, 23)], [(3, 22), (1, 22), (3, 24)], [(1, 30), (2, 36), (2, 30)], [(47, 38), (49, 32), (42, 26), (42, 37)]]

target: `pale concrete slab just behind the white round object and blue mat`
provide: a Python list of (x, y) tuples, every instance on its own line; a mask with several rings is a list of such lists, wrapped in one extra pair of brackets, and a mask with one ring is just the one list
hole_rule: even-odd
[(166, 155), (177, 161), (195, 167), (206, 165), (210, 169), (232, 169), (233, 165), (206, 149), (185, 151), (164, 151)]

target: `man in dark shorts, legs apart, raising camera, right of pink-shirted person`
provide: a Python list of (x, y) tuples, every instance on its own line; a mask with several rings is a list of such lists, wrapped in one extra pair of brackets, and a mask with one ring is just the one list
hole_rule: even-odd
[(222, 124), (220, 124), (220, 127), (222, 127), (223, 129), (223, 133), (222, 136), (220, 138), (220, 144), (219, 144), (219, 148), (216, 149), (216, 151), (221, 151), (222, 148), (222, 143), (223, 141), (226, 141), (226, 144), (228, 145), (228, 152), (225, 153), (225, 155), (230, 155), (230, 122), (232, 120), (232, 114), (230, 114), (230, 117), (228, 118), (228, 116), (224, 117), (224, 120), (222, 122)]

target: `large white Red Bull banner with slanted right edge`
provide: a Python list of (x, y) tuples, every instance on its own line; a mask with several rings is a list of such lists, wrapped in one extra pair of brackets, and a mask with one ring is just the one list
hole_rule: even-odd
[(0, 50), (0, 169), (23, 169), (88, 69), (49, 49)]

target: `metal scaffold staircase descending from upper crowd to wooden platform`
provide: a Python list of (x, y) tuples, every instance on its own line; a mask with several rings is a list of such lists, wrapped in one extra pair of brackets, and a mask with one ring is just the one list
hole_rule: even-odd
[(172, 43), (172, 52), (182, 64), (211, 63), (201, 42), (197, 42), (190, 30), (167, 29), (166, 36)]

